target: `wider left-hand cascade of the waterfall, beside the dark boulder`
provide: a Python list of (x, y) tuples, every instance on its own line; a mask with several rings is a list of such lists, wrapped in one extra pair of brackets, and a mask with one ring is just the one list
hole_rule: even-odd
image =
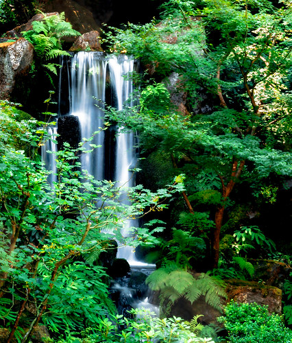
[[(80, 51), (71, 60), (71, 84), (69, 86), (70, 115), (78, 117), (81, 126), (81, 137), (89, 139), (95, 135), (93, 143), (101, 148), (95, 149), (93, 154), (82, 156), (82, 168), (97, 180), (104, 179), (104, 132), (101, 128), (103, 112), (95, 106), (97, 100), (104, 104), (106, 91), (106, 60), (102, 53), (88, 53)], [(89, 146), (86, 146), (90, 148)]]

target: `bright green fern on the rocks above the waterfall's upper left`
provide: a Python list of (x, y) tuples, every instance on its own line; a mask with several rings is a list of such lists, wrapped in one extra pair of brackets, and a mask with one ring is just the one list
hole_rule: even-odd
[[(34, 45), (34, 50), (40, 60), (51, 60), (58, 56), (69, 55), (67, 51), (62, 49), (62, 38), (80, 36), (80, 32), (73, 29), (71, 23), (65, 21), (64, 12), (51, 16), (44, 14), (42, 21), (33, 21), (32, 29), (22, 32), (22, 34)], [(43, 65), (49, 71), (57, 73), (58, 64), (47, 63)]]

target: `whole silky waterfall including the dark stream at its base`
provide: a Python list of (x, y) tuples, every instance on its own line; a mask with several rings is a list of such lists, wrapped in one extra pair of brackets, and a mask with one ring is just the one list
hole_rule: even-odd
[[(119, 182), (119, 186), (134, 186), (134, 177), (130, 169), (136, 166), (136, 134), (134, 132), (121, 132), (121, 128), (115, 128), (115, 138), (107, 136), (101, 128), (104, 126), (104, 112), (102, 106), (106, 99), (107, 89), (110, 88), (110, 105), (118, 110), (123, 108), (123, 104), (129, 99), (133, 91), (132, 80), (125, 78), (127, 73), (134, 71), (135, 62), (128, 56), (105, 56), (100, 52), (80, 51), (73, 54), (66, 65), (62, 60), (62, 78), (68, 78), (68, 92), (64, 92), (69, 97), (69, 113), (62, 115), (59, 105), (58, 126), (66, 125), (69, 118), (77, 119), (80, 137), (89, 138), (93, 132), (95, 134), (93, 143), (101, 145), (92, 154), (84, 154), (81, 159), (82, 169), (86, 169), (89, 174), (97, 180), (111, 179)], [(63, 81), (60, 78), (59, 104), (63, 101)], [(107, 87), (107, 85), (110, 85)], [(98, 106), (97, 106), (98, 104)], [(131, 104), (127, 104), (129, 106)], [(56, 129), (49, 127), (49, 134), (56, 134)], [(59, 131), (59, 130), (58, 130)], [(108, 131), (108, 130), (107, 130)], [(62, 134), (62, 133), (60, 133)], [(52, 154), (46, 154), (46, 150), (56, 151), (56, 144), (48, 141), (42, 149), (42, 158), (49, 169), (55, 169), (56, 163)], [(49, 182), (53, 182), (53, 176)], [(127, 220), (123, 228), (123, 236), (131, 235), (131, 227), (138, 227), (138, 220)], [(126, 259), (130, 264), (131, 276), (141, 274), (149, 275), (155, 269), (155, 265), (148, 264), (136, 259), (133, 248), (130, 246), (119, 246), (117, 258)], [(113, 292), (119, 294), (120, 313), (125, 314), (127, 309), (132, 307), (145, 307), (158, 315), (158, 307), (151, 305), (148, 301), (147, 288), (143, 289), (128, 287), (128, 277), (119, 278), (112, 285)]]

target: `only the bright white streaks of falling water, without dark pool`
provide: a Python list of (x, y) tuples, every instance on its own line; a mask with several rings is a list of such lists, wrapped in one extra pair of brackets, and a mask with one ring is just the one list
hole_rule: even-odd
[[(133, 187), (134, 177), (130, 169), (136, 167), (136, 137), (134, 132), (121, 132), (117, 129), (114, 141), (114, 152), (110, 152), (112, 145), (106, 148), (105, 133), (101, 128), (104, 126), (104, 113), (100, 106), (106, 102), (106, 89), (110, 84), (111, 95), (118, 110), (123, 108), (123, 104), (130, 97), (133, 91), (132, 81), (125, 78), (127, 73), (134, 70), (134, 60), (125, 55), (104, 56), (99, 52), (80, 51), (71, 57), (71, 64), (65, 75), (69, 76), (69, 115), (78, 117), (80, 121), (81, 137), (90, 138), (93, 132), (99, 131), (95, 135), (93, 143), (101, 145), (90, 154), (83, 154), (82, 168), (89, 174), (95, 176), (97, 180), (106, 178), (106, 165), (109, 165), (113, 181), (123, 187)], [(62, 91), (60, 91), (62, 97)], [(101, 100), (101, 102), (97, 102)], [(96, 106), (98, 103), (99, 107)], [(130, 104), (127, 104), (129, 106)], [(88, 143), (86, 143), (88, 144)], [(87, 145), (89, 147), (89, 145)], [(55, 147), (53, 147), (54, 149)], [(48, 150), (48, 147), (44, 148)], [(111, 156), (114, 156), (112, 158)], [(111, 160), (114, 160), (112, 163)], [(54, 167), (52, 161), (47, 161), (49, 168)], [(131, 227), (138, 228), (138, 220), (127, 220), (123, 228), (122, 235), (127, 237)], [(126, 259), (130, 267), (149, 274), (150, 270), (155, 269), (155, 265), (138, 261), (134, 250), (130, 246), (119, 246), (118, 258)], [(121, 287), (117, 284), (117, 287)], [(125, 287), (121, 287), (123, 291)], [(128, 290), (126, 289), (126, 292)], [(139, 305), (139, 304), (140, 305)], [(149, 307), (147, 299), (143, 302), (136, 302), (136, 307)], [(157, 309), (156, 309), (157, 311)]]

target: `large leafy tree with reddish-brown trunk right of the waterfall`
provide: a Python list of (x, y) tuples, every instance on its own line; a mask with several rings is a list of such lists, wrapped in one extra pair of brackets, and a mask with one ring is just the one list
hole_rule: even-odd
[[(292, 174), (291, 4), (170, 0), (162, 7), (159, 22), (107, 28), (105, 41), (141, 59), (155, 78), (141, 89), (141, 108), (110, 115), (139, 130), (145, 150), (169, 152), (186, 175), (184, 198), (220, 193), (209, 203), (191, 202), (195, 212), (212, 213), (215, 229), (208, 238), (216, 268), (221, 226), (236, 188), (238, 198), (249, 192), (250, 199), (274, 204), (280, 176)], [(173, 73), (174, 91), (167, 79)], [(181, 93), (187, 97), (184, 113), (168, 105)], [(154, 94), (159, 108), (148, 100)]]

